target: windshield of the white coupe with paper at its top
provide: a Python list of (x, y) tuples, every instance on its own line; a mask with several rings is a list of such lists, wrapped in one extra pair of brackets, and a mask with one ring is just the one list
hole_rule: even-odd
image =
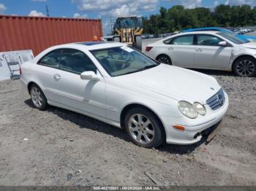
[(91, 50), (91, 53), (111, 77), (143, 71), (158, 65), (143, 53), (127, 46)]

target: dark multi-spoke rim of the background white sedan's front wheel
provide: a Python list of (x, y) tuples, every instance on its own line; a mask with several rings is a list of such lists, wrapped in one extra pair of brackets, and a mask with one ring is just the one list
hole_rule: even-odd
[(255, 72), (255, 63), (249, 60), (242, 60), (236, 65), (237, 73), (242, 77), (248, 77)]

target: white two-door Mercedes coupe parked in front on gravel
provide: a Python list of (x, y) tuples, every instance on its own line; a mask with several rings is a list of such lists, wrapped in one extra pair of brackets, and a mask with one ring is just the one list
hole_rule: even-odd
[(194, 144), (227, 112), (214, 77), (169, 66), (125, 44), (50, 47), (21, 66), (37, 109), (58, 106), (125, 128), (142, 147)]

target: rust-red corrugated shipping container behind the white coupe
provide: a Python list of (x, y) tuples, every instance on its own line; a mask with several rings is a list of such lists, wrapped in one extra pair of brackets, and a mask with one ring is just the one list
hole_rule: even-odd
[(0, 15), (0, 52), (31, 49), (34, 55), (57, 44), (102, 36), (102, 20)]

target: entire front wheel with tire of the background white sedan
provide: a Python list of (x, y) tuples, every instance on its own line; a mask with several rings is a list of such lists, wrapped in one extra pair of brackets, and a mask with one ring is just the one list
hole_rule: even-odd
[(234, 63), (233, 71), (239, 77), (255, 77), (256, 61), (250, 57), (240, 58)]

